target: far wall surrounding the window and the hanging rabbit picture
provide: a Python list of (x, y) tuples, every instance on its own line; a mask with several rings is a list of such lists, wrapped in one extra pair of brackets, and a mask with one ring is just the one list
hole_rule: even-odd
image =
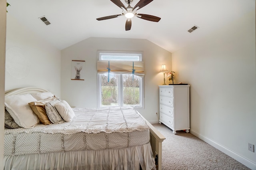
[[(61, 51), (61, 95), (71, 106), (97, 107), (97, 51), (141, 51), (144, 61), (145, 109), (137, 110), (150, 122), (158, 123), (159, 90), (163, 83), (161, 65), (171, 70), (171, 53), (141, 39), (88, 38)], [(85, 81), (71, 79), (71, 61), (85, 60)]]

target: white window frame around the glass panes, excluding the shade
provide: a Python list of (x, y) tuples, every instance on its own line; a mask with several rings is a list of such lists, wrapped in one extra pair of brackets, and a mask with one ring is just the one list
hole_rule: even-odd
[[(127, 51), (98, 51), (98, 58), (100, 61), (104, 61), (101, 59), (101, 55), (102, 54), (118, 54), (118, 55), (129, 55), (129, 54), (136, 54), (139, 55), (139, 59), (140, 61), (142, 61), (142, 52), (127, 52)], [(106, 60), (105, 60), (106, 61)], [(110, 61), (131, 61), (131, 60), (110, 60)], [(122, 107), (123, 105), (123, 98), (124, 98), (124, 93), (123, 93), (123, 76), (122, 74), (118, 74), (118, 106), (102, 106), (101, 105), (101, 80), (100, 80), (100, 74), (97, 73), (97, 106), (98, 108), (102, 108), (102, 107)], [(144, 108), (144, 77), (141, 77), (141, 81), (140, 81), (140, 105), (129, 105), (132, 107), (142, 107)]]

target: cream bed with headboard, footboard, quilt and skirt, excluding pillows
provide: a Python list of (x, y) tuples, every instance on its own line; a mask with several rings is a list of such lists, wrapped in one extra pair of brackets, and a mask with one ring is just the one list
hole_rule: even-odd
[[(16, 89), (6, 93), (9, 103), (6, 101), (5, 105), (12, 108), (15, 95), (45, 93), (50, 92), (36, 87)], [(33, 102), (40, 101), (36, 97)], [(46, 122), (44, 125), (40, 123), (41, 117), (36, 125), (28, 125), (32, 121), (24, 120), (26, 125), (19, 122), (21, 128), (5, 128), (4, 168), (162, 169), (162, 141), (165, 138), (132, 107), (72, 108), (72, 112), (70, 121), (61, 115), (63, 120), (59, 123)]]

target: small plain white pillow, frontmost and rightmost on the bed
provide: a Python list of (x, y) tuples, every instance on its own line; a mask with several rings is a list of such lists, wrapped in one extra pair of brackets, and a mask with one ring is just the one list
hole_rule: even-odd
[(71, 122), (75, 117), (75, 113), (66, 101), (61, 101), (55, 105), (62, 119), (66, 122)]

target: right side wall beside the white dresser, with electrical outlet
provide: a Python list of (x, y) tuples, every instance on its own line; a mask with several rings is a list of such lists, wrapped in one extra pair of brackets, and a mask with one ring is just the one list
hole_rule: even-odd
[[(202, 29), (202, 28), (200, 28)], [(200, 31), (200, 30), (198, 30)], [(190, 86), (192, 134), (256, 169), (255, 10), (172, 53)]]

